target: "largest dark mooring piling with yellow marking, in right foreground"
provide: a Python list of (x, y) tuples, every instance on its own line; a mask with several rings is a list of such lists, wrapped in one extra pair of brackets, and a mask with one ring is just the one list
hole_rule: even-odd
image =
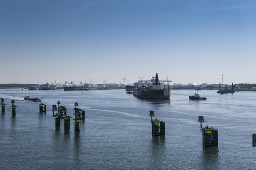
[(213, 127), (208, 125), (203, 127), (202, 123), (205, 122), (203, 116), (198, 116), (198, 122), (200, 123), (201, 132), (202, 132), (202, 143), (203, 148), (218, 146), (218, 131)]

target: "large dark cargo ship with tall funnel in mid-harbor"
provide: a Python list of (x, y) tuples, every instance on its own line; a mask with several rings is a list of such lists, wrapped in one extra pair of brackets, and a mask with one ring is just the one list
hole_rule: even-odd
[[(133, 90), (135, 97), (140, 99), (170, 99), (171, 90), (168, 82), (171, 82), (171, 80), (160, 81), (157, 73), (151, 80), (139, 80), (139, 82), (141, 82), (141, 85)], [(164, 84), (164, 82), (167, 84)]]

